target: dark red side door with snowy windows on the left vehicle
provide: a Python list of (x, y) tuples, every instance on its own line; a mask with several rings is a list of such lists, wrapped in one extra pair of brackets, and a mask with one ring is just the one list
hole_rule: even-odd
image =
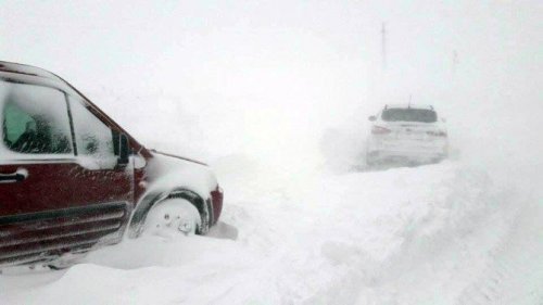
[(0, 75), (0, 265), (121, 239), (134, 201), (118, 132), (85, 101)]

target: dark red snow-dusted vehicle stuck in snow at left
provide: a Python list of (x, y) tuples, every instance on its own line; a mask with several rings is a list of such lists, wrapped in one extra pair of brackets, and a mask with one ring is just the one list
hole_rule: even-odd
[(0, 270), (217, 223), (205, 164), (146, 149), (52, 73), (0, 62)]

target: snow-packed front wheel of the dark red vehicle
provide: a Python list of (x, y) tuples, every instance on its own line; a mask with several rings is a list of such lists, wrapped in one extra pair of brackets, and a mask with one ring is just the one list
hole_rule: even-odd
[(143, 224), (144, 234), (190, 236), (202, 231), (202, 218), (198, 208), (185, 199), (166, 199), (156, 203)]

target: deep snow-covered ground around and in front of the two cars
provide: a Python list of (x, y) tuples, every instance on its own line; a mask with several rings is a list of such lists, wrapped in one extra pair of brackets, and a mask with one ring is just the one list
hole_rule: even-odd
[(458, 161), (290, 176), (231, 155), (214, 168), (228, 196), (210, 237), (144, 237), (67, 270), (3, 275), (0, 303), (543, 301), (541, 192)]

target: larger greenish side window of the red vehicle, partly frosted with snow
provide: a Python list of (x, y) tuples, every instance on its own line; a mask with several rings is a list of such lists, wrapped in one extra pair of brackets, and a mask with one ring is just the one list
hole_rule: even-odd
[(63, 92), (29, 84), (0, 84), (4, 91), (3, 144), (24, 154), (68, 154), (72, 139)]

